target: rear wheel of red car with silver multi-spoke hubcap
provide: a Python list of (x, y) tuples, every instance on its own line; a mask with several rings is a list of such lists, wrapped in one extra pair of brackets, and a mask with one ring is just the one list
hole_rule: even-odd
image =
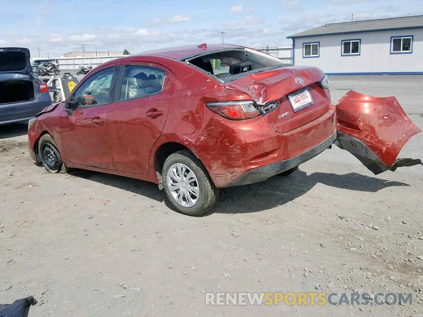
[[(188, 177), (190, 172), (193, 176)], [(180, 175), (188, 178), (185, 180), (192, 181), (186, 183), (184, 178), (182, 180), (179, 178)], [(176, 178), (179, 178), (181, 182), (178, 183)], [(188, 192), (188, 186), (191, 192)], [(187, 150), (175, 152), (166, 159), (163, 165), (163, 188), (170, 204), (180, 213), (188, 216), (199, 216), (211, 210), (219, 192), (201, 161)], [(181, 188), (182, 193), (180, 193)], [(195, 191), (198, 191), (198, 194)]]

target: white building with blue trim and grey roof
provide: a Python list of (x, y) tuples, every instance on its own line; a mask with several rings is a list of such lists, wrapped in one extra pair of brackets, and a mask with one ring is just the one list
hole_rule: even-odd
[(326, 24), (288, 38), (295, 66), (328, 75), (423, 74), (423, 16)]

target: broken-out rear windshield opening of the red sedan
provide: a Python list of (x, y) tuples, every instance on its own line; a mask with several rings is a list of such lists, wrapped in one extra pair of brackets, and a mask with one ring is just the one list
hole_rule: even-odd
[(215, 77), (228, 82), (246, 74), (268, 70), (268, 68), (286, 67), (291, 64), (277, 57), (253, 49), (229, 49), (194, 57), (188, 60)]

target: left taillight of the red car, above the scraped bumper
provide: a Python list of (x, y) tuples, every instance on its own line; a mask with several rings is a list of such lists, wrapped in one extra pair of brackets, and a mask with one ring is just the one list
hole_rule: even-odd
[(230, 120), (245, 120), (260, 115), (260, 111), (252, 100), (208, 102), (206, 106)]

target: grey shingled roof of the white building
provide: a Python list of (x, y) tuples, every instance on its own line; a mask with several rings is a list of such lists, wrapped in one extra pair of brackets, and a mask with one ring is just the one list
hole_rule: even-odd
[(411, 29), (416, 27), (423, 27), (423, 16), (404, 16), (402, 18), (325, 24), (319, 27), (315, 27), (314, 29), (287, 36), (287, 38), (382, 30)]

